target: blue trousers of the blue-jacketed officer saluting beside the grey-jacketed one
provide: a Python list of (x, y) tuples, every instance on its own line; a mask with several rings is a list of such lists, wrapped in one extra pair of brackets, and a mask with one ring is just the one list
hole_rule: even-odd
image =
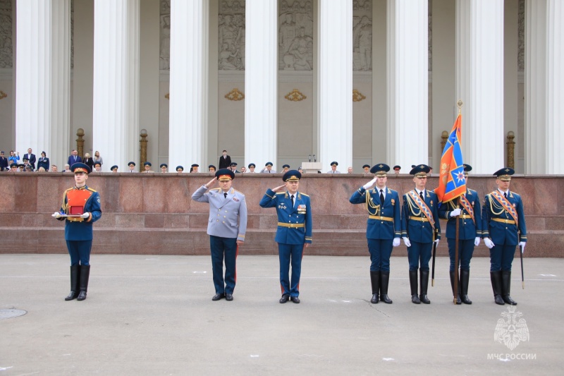
[[(282, 295), (300, 295), (300, 274), (302, 274), (303, 244), (278, 243), (278, 258), (280, 259), (280, 287)], [(292, 265), (292, 280), (290, 281), (290, 263)]]

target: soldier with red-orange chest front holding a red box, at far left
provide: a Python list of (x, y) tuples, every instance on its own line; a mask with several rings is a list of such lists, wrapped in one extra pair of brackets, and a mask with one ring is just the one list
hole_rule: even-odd
[[(71, 293), (65, 298), (72, 301), (86, 299), (90, 277), (90, 250), (92, 250), (92, 224), (102, 217), (100, 195), (86, 186), (90, 167), (75, 163), (71, 167), (75, 174), (75, 186), (63, 194), (63, 203), (53, 217), (65, 220), (65, 240), (71, 255)], [(82, 213), (80, 217), (61, 217), (63, 214)]]

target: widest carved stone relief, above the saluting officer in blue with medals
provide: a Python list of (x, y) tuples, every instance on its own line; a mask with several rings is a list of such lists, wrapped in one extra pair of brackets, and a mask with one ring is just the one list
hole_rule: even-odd
[(278, 69), (312, 71), (312, 1), (282, 0), (278, 11)]

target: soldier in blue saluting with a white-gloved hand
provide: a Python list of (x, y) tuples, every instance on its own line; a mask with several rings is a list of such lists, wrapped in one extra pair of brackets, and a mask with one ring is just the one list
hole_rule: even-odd
[[(390, 166), (376, 164), (370, 172), (376, 176), (369, 183), (358, 188), (350, 197), (351, 204), (364, 204), (368, 210), (366, 237), (370, 253), (370, 281), (372, 283), (372, 299), (391, 304), (388, 297), (390, 281), (390, 256), (392, 248), (400, 245), (401, 214), (400, 197), (396, 190), (386, 188), (387, 172)], [(374, 186), (373, 189), (369, 189)]]

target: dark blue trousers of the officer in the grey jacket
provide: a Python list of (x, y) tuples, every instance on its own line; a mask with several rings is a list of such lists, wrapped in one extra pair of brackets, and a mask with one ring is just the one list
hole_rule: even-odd
[[(216, 293), (233, 293), (237, 280), (235, 260), (239, 253), (237, 238), (210, 235), (209, 248), (212, 250), (212, 272)], [(223, 279), (223, 257), (225, 257), (225, 279)]]

